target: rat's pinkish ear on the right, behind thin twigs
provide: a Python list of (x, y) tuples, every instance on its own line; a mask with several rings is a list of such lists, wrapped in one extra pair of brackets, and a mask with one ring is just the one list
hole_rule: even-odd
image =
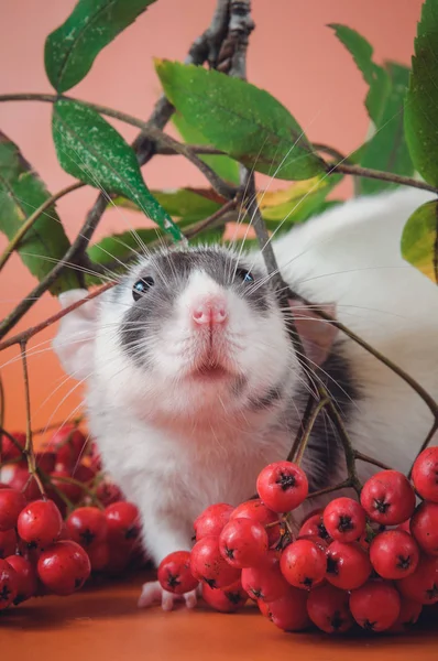
[[(296, 329), (302, 338), (307, 357), (314, 365), (322, 365), (330, 354), (333, 342), (338, 336), (339, 328), (330, 324), (330, 322), (322, 319), (313, 310), (311, 305), (297, 301), (296, 299), (289, 299), (288, 302), (294, 315)], [(324, 312), (331, 317), (335, 317), (335, 303), (326, 303), (318, 305), (318, 307), (324, 310)]]

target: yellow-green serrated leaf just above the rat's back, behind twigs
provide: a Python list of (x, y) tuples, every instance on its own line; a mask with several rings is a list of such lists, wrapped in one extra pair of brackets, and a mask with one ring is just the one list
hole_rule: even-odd
[(291, 225), (304, 223), (319, 208), (327, 195), (342, 180), (341, 174), (319, 175), (297, 182), (283, 191), (259, 193), (259, 206), (265, 220)]

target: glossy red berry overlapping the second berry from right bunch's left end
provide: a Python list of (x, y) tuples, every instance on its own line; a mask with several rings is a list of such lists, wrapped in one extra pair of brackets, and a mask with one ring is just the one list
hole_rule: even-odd
[(222, 557), (238, 570), (260, 564), (267, 553), (267, 534), (258, 521), (233, 519), (219, 535)]

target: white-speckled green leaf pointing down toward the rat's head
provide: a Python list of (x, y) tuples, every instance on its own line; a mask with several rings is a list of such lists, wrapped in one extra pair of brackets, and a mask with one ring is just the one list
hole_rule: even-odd
[(132, 148), (100, 115), (83, 104), (61, 99), (53, 107), (52, 129), (58, 161), (68, 174), (129, 197), (175, 240), (183, 238), (146, 187)]

